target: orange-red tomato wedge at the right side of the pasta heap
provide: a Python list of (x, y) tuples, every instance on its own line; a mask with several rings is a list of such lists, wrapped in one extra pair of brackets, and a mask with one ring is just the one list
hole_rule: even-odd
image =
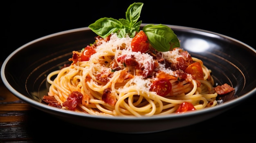
[(195, 76), (196, 79), (204, 79), (204, 73), (200, 62), (194, 62), (190, 64), (185, 70), (185, 73), (189, 73)]

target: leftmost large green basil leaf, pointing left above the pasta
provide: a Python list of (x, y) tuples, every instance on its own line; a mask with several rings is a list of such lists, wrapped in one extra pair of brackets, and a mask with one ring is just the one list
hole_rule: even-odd
[[(119, 31), (124, 29), (124, 25), (114, 18), (100, 18), (88, 27), (103, 38), (108, 37), (111, 33), (119, 34)], [(123, 36), (124, 34), (121, 33), (121, 35)]]

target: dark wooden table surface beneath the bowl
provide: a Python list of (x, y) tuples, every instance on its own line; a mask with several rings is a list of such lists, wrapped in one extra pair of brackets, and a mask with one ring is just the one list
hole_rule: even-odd
[(207, 121), (149, 134), (119, 134), (79, 127), (20, 101), (0, 82), (0, 143), (88, 141), (255, 141), (256, 98)]

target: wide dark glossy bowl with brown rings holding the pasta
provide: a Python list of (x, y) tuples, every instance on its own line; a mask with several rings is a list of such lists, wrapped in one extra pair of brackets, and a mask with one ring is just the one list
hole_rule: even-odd
[[(141, 28), (146, 24), (141, 24)], [(16, 97), (32, 107), (67, 123), (85, 128), (118, 133), (152, 133), (181, 128), (218, 116), (246, 101), (256, 93), (256, 51), (234, 38), (185, 26), (167, 25), (180, 39), (181, 48), (197, 57), (212, 70), (216, 84), (227, 83), (234, 92), (222, 96), (223, 103), (184, 114), (153, 117), (102, 117), (61, 110), (41, 103), (47, 95), (46, 76), (63, 64), (69, 64), (72, 51), (94, 42), (96, 34), (88, 27), (46, 35), (13, 51), (4, 60), (1, 77)], [(245, 58), (246, 57), (246, 58)]]

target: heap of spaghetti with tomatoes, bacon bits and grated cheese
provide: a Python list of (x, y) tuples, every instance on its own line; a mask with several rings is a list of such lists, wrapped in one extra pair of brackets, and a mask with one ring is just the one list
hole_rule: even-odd
[(43, 101), (76, 112), (127, 117), (171, 114), (184, 103), (192, 105), (186, 110), (217, 105), (211, 70), (200, 59), (182, 48), (135, 52), (132, 39), (117, 33), (98, 36), (87, 46), (91, 55), (85, 61), (86, 48), (73, 51), (70, 66), (47, 76), (51, 86)]

